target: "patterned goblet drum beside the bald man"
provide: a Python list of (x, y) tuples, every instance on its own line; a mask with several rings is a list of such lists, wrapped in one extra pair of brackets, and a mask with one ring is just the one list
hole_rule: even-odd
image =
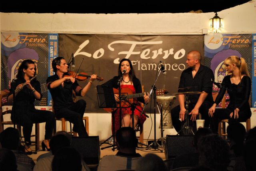
[(162, 109), (162, 120), (160, 121), (159, 128), (161, 128), (161, 122), (163, 123), (162, 128), (171, 129), (172, 126), (172, 116), (170, 110), (172, 108), (173, 103), (176, 100), (175, 95), (161, 95), (156, 96), (156, 103), (158, 105), (159, 113), (161, 114)]

